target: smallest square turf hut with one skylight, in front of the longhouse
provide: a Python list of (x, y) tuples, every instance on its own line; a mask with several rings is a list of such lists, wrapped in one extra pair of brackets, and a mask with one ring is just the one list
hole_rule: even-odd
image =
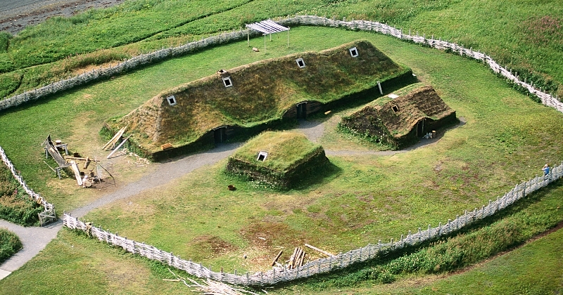
[(275, 188), (291, 188), (305, 173), (322, 169), (329, 159), (320, 145), (302, 133), (265, 131), (229, 157), (227, 171)]

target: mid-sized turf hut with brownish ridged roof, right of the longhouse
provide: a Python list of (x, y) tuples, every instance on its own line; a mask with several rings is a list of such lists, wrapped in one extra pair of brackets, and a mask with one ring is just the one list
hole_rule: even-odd
[(412, 84), (343, 117), (341, 127), (397, 149), (454, 122), (455, 110), (432, 86)]

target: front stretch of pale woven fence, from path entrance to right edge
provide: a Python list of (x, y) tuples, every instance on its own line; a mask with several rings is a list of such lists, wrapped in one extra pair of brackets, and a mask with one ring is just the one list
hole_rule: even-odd
[(492, 216), (496, 212), (510, 206), (510, 204), (516, 202), (517, 200), (526, 197), (526, 195), (529, 195), (532, 192), (540, 190), (540, 188), (543, 188), (549, 183), (557, 181), (557, 179), (562, 177), (563, 162), (559, 166), (555, 166), (547, 176), (536, 176), (529, 181), (519, 183), (510, 190), (510, 192), (507, 192), (502, 197), (497, 197), (495, 201), (489, 200), (488, 204), (483, 205), (481, 209), (475, 208), (473, 211), (465, 211), (462, 216), (458, 215), (454, 220), (448, 219), (448, 222), (445, 224), (439, 223), (436, 228), (432, 228), (431, 225), (428, 225), (426, 230), (418, 228), (417, 232), (414, 234), (409, 230), (406, 236), (401, 235), (400, 239), (396, 242), (391, 239), (391, 242), (381, 243), (381, 240), (379, 240), (377, 244), (368, 244), (366, 247), (354, 249), (343, 254), (338, 254), (334, 257), (309, 261), (308, 263), (305, 263), (305, 265), (291, 270), (287, 268), (284, 268), (283, 270), (276, 270), (275, 268), (272, 268), (272, 270), (268, 270), (266, 272), (253, 274), (244, 273), (243, 275), (237, 275), (236, 270), (234, 270), (233, 274), (224, 273), (222, 270), (219, 273), (214, 272), (210, 268), (205, 268), (201, 265), (201, 263), (186, 261), (174, 256), (172, 253), (162, 251), (151, 245), (128, 240), (126, 237), (120, 237), (111, 232), (107, 232), (106, 230), (102, 230), (101, 228), (91, 226), (90, 223), (83, 223), (68, 214), (64, 214), (63, 216), (63, 226), (74, 230), (82, 230), (87, 232), (88, 235), (96, 237), (100, 241), (121, 247), (122, 249), (125, 249), (125, 251), (139, 254), (152, 260), (167, 263), (174, 268), (184, 270), (186, 273), (196, 277), (209, 278), (211, 280), (217, 280), (229, 284), (272, 285), (279, 282), (289, 282), (305, 277), (311, 277), (312, 275), (320, 273), (328, 273), (331, 270), (346, 268), (348, 265), (367, 261), (376, 256), (388, 254), (391, 251), (397, 251), (408, 246), (434, 240), (443, 235), (449, 235), (476, 221)]

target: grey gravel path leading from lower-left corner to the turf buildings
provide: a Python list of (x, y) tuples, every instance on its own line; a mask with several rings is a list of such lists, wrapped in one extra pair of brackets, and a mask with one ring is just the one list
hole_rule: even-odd
[[(453, 126), (451, 128), (455, 128), (457, 126), (462, 126), (465, 124), (465, 120), (460, 117), (460, 124)], [(301, 120), (299, 122), (298, 131), (301, 131), (307, 136), (309, 140), (312, 142), (318, 143), (318, 140), (322, 137), (324, 133), (324, 124), (320, 122), (308, 122), (305, 120)], [(443, 132), (441, 132), (443, 134)], [(353, 150), (340, 150), (340, 151), (330, 151), (326, 150), (326, 155), (333, 155), (333, 156), (348, 156), (348, 155), (394, 155), (399, 152), (408, 152), (410, 150), (415, 150), (418, 147), (428, 145), (431, 143), (435, 143), (437, 140), (440, 139), (441, 136), (437, 138), (432, 138), (428, 140), (420, 140), (419, 143), (409, 147), (405, 150), (397, 150), (397, 151), (353, 151)], [(155, 163), (158, 165), (156, 171), (151, 174), (148, 174), (139, 181), (135, 181), (133, 183), (128, 183), (123, 185), (115, 192), (112, 192), (108, 195), (104, 195), (103, 197), (96, 199), (96, 201), (87, 204), (86, 206), (82, 206), (80, 208), (74, 209), (70, 211), (70, 214), (75, 217), (82, 217), (86, 215), (89, 211), (99, 208), (101, 206), (105, 206), (106, 204), (110, 204), (111, 202), (115, 202), (119, 199), (125, 199), (127, 197), (131, 197), (134, 195), (139, 194), (144, 190), (148, 190), (151, 188), (156, 188), (159, 185), (164, 185), (172, 180), (180, 178), (195, 169), (198, 169), (202, 166), (211, 165), (219, 162), (220, 160), (229, 157), (229, 155), (234, 152), (234, 150), (239, 147), (241, 143), (229, 143), (220, 145), (215, 147), (213, 150), (209, 150), (207, 152), (202, 152), (201, 154), (191, 155), (188, 157), (175, 159), (170, 162), (165, 163)], [(58, 230), (61, 230), (63, 225), (62, 221), (57, 221), (56, 223), (51, 223), (47, 226), (42, 228), (24, 228), (20, 225), (15, 225), (13, 223), (9, 223), (8, 221), (0, 220), (0, 227), (8, 228), (12, 232), (15, 232), (20, 240), (23, 243), (23, 249), (18, 251), (14, 256), (9, 258), (7, 261), (4, 261), (0, 265), (0, 280), (7, 275), (9, 275), (14, 270), (17, 270), (22, 265), (30, 261), (35, 255), (39, 254), (39, 251), (44, 249), (51, 240), (53, 240)]]

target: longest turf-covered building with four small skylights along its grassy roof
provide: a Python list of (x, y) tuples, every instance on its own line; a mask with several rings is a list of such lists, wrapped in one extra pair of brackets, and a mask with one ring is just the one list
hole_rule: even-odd
[(173, 150), (222, 142), (234, 132), (259, 132), (284, 118), (324, 110), (327, 103), (365, 97), (377, 91), (377, 81), (385, 87), (410, 79), (410, 69), (360, 40), (219, 70), (160, 93), (108, 126), (117, 131), (128, 125), (139, 152), (156, 157), (169, 152), (162, 151), (167, 143)]

